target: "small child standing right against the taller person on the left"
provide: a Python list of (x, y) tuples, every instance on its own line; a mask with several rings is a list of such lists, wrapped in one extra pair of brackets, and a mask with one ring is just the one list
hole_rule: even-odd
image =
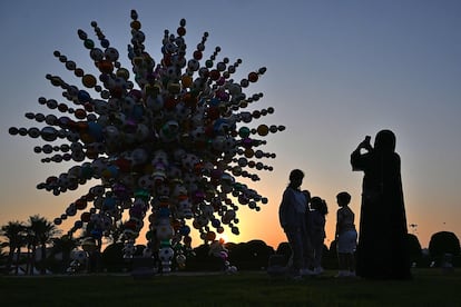
[(311, 198), (311, 224), (308, 225), (311, 232), (312, 246), (314, 249), (314, 274), (322, 274), (322, 255), (325, 240), (325, 216), (328, 214), (328, 208), (325, 200), (315, 196)]

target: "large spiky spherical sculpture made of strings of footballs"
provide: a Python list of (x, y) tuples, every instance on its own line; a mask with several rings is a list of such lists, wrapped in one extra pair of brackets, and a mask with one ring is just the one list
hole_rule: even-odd
[[(264, 137), (285, 128), (246, 126), (274, 112), (273, 108), (244, 111), (263, 97), (247, 96), (244, 89), (258, 81), (265, 68), (233, 80), (242, 60), (218, 60), (219, 47), (205, 59), (207, 32), (187, 59), (184, 19), (176, 34), (165, 30), (163, 58), (157, 63), (145, 50), (146, 37), (136, 11), (131, 19), (131, 72), (121, 67), (118, 50), (91, 22), (100, 47), (85, 31), (78, 30), (78, 36), (97, 76), (55, 51), (82, 88), (47, 75), (69, 102), (41, 97), (38, 102), (56, 115), (28, 112), (28, 119), (43, 127), (11, 127), (9, 132), (41, 138), (46, 143), (33, 150), (46, 155), (42, 162), (75, 162), (67, 172), (38, 184), (38, 189), (58, 196), (97, 179), (55, 219), (56, 225), (77, 216), (70, 232), (84, 228), (96, 240), (118, 231), (129, 258), (147, 217), (144, 254), (159, 255), (167, 271), (174, 255), (184, 259), (178, 247), (190, 247), (192, 229), (205, 241), (214, 240), (225, 227), (238, 235), (238, 206), (259, 210), (259, 204), (267, 202), (237, 178), (256, 181), (255, 171), (272, 170), (262, 160), (275, 154), (259, 148), (266, 143)], [(122, 220), (124, 216), (128, 218)]]

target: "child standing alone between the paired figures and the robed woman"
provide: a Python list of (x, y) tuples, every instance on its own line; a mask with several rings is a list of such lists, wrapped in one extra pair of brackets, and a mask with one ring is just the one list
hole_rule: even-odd
[(336, 248), (340, 271), (337, 277), (355, 276), (355, 248), (357, 231), (354, 225), (354, 212), (349, 207), (351, 195), (346, 191), (336, 195), (340, 209), (336, 212)]

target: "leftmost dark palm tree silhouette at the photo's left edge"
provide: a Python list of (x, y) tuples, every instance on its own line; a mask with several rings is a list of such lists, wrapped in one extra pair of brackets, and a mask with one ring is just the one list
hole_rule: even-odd
[[(26, 226), (20, 221), (9, 221), (1, 227), (1, 236), (7, 238), (7, 246), (9, 247), (7, 258), (7, 273), (11, 270), (14, 252), (17, 252), (17, 261), (21, 254), (21, 247), (24, 242)], [(18, 274), (18, 266), (16, 266), (16, 274)]]

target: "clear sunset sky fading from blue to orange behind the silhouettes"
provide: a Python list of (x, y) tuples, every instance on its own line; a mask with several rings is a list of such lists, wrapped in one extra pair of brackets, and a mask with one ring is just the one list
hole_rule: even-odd
[[(39, 97), (63, 100), (47, 73), (72, 85), (80, 80), (55, 57), (59, 50), (97, 73), (78, 29), (94, 34), (97, 21), (124, 67), (130, 43), (130, 10), (137, 10), (146, 50), (158, 62), (165, 29), (185, 18), (187, 58), (209, 32), (205, 55), (241, 58), (246, 75), (267, 72), (245, 90), (263, 92), (255, 109), (275, 108), (261, 122), (284, 125), (264, 151), (273, 171), (249, 182), (268, 204), (259, 212), (238, 210), (241, 235), (234, 242), (262, 239), (274, 248), (286, 238), (278, 205), (294, 168), (305, 171), (303, 188), (324, 198), (330, 214), (326, 244), (334, 236), (335, 196), (346, 190), (359, 224), (363, 174), (353, 172), (350, 154), (366, 135), (381, 129), (398, 138), (410, 232), (423, 247), (437, 231), (461, 236), (461, 2), (458, 0), (205, 0), (205, 1), (1, 1), (0, 34), (0, 225), (39, 214), (49, 220), (87, 192), (59, 197), (36, 185), (69, 164), (41, 164), (38, 140), (12, 137), (10, 127), (33, 127), (26, 112), (48, 110)], [(41, 127), (41, 126), (38, 126)], [(75, 219), (70, 220), (71, 222)], [(69, 225), (65, 225), (70, 227)], [(195, 238), (195, 245), (200, 240)]]

